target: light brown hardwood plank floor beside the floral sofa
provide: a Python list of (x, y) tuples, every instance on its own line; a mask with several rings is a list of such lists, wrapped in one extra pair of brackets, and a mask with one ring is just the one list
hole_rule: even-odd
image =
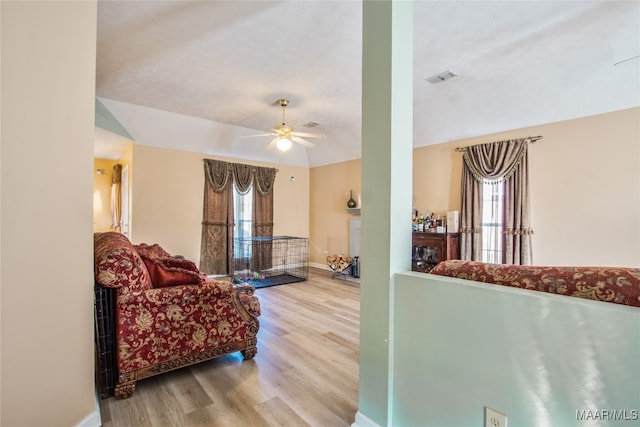
[(360, 288), (311, 272), (256, 290), (258, 354), (239, 353), (138, 382), (100, 401), (102, 425), (348, 426), (358, 409)]

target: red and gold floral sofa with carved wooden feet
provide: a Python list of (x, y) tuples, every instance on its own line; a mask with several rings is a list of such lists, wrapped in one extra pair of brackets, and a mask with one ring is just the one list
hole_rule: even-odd
[(131, 396), (145, 377), (237, 351), (256, 355), (252, 286), (207, 279), (192, 261), (120, 233), (95, 233), (94, 251), (96, 287), (116, 290), (116, 398)]

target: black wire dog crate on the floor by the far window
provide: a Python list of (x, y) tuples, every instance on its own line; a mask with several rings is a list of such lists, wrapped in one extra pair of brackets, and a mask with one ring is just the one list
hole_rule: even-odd
[(261, 288), (309, 278), (308, 238), (240, 237), (233, 243), (236, 280)]

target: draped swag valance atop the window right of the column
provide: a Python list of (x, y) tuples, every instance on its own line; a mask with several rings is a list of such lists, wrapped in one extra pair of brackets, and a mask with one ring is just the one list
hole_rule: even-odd
[(502, 182), (511, 178), (527, 151), (528, 139), (512, 139), (466, 147), (462, 156), (474, 179)]

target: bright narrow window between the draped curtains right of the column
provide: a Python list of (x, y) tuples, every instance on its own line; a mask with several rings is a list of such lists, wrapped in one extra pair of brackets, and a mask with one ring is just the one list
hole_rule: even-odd
[(482, 261), (502, 263), (504, 183), (482, 184)]

